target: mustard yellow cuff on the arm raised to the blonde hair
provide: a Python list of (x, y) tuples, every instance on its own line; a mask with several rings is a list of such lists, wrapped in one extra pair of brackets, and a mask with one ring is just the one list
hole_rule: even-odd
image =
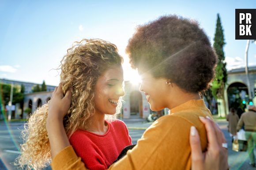
[(62, 170), (63, 167), (68, 167), (70, 163), (74, 163), (78, 159), (72, 146), (67, 146), (62, 149), (54, 158), (51, 163), (53, 170)]

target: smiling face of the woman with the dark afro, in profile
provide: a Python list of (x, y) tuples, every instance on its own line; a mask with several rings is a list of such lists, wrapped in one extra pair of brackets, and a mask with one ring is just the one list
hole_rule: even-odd
[(141, 79), (139, 90), (145, 93), (151, 110), (160, 111), (167, 107), (165, 97), (168, 93), (168, 86), (166, 86), (166, 79), (154, 78), (149, 73), (141, 74)]

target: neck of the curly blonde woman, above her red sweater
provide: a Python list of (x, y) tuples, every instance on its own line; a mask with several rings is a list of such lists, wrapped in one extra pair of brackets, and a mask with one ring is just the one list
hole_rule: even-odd
[(108, 126), (105, 123), (105, 115), (95, 113), (92, 117), (91, 125), (87, 128), (87, 131), (104, 135), (108, 130)]

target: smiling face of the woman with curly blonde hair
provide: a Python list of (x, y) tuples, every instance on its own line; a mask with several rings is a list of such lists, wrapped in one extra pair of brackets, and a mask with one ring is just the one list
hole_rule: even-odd
[(113, 115), (117, 111), (120, 96), (124, 96), (123, 69), (113, 66), (98, 78), (95, 85), (95, 111), (96, 114)]

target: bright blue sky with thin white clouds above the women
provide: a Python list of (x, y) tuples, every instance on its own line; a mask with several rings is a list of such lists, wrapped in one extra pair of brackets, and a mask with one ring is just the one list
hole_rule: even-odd
[[(246, 40), (235, 40), (235, 9), (256, 8), (255, 0), (0, 0), (0, 78), (58, 85), (56, 69), (66, 50), (82, 38), (101, 38), (124, 56), (124, 79), (134, 77), (125, 47), (136, 26), (161, 15), (195, 19), (212, 44), (221, 16), (228, 69), (244, 66)], [(249, 65), (256, 65), (250, 44)]]

